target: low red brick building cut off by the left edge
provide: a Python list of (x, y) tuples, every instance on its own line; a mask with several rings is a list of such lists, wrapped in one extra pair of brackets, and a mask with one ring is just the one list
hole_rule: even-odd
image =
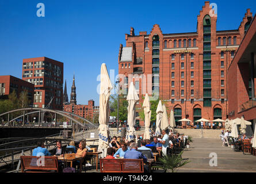
[(12, 75), (0, 76), (0, 99), (8, 99), (8, 95), (14, 90), (17, 93), (17, 97), (19, 97), (22, 91), (28, 91), (30, 106), (33, 106), (34, 85), (32, 83), (23, 81)]

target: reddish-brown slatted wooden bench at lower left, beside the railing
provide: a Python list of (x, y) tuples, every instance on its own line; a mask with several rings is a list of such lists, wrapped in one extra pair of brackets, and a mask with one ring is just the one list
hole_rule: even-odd
[[(40, 160), (39, 160), (40, 159)], [(39, 164), (37, 164), (39, 160)], [(57, 156), (21, 156), (21, 171), (22, 173), (44, 173), (44, 172), (57, 172), (58, 167), (58, 157)]]

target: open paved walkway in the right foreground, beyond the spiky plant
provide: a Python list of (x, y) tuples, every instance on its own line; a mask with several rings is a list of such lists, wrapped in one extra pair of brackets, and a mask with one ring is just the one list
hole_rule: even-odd
[[(191, 162), (181, 167), (179, 173), (256, 172), (256, 156), (222, 147), (220, 139), (193, 139), (190, 146), (182, 158), (188, 158)], [(209, 154), (212, 152), (217, 154), (216, 167), (209, 164), (212, 159)]]

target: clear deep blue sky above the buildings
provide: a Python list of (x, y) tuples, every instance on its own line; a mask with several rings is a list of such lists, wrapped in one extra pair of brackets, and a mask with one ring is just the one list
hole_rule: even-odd
[[(37, 17), (44, 3), (45, 17)], [(217, 30), (238, 29), (256, 1), (210, 1), (217, 4)], [(125, 33), (151, 31), (159, 24), (163, 33), (196, 32), (204, 1), (57, 1), (0, 0), (0, 75), (22, 78), (22, 59), (49, 57), (64, 63), (64, 80), (70, 99), (75, 73), (78, 104), (99, 103), (97, 76), (101, 63), (118, 74), (119, 45)], [(63, 83), (64, 86), (64, 83)]]

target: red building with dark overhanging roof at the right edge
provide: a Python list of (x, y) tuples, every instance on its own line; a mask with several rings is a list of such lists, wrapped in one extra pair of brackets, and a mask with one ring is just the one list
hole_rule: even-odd
[[(251, 19), (252, 17), (248, 17)], [(255, 53), (256, 19), (253, 18), (230, 67), (228, 68), (228, 117), (244, 117), (244, 120), (256, 122), (255, 98)]]

